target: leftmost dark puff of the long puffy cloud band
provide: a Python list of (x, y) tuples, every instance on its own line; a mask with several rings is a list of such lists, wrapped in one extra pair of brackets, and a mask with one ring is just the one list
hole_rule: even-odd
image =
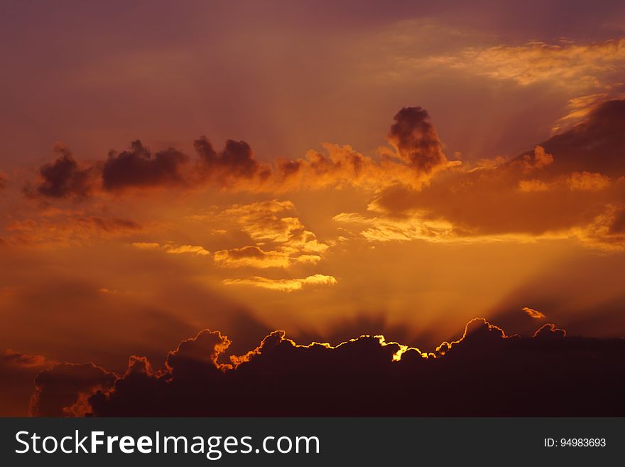
[(39, 169), (41, 181), (34, 186), (26, 185), (23, 193), (29, 197), (87, 198), (92, 192), (93, 168), (80, 168), (70, 149), (63, 143), (54, 146), (57, 155), (52, 163)]

